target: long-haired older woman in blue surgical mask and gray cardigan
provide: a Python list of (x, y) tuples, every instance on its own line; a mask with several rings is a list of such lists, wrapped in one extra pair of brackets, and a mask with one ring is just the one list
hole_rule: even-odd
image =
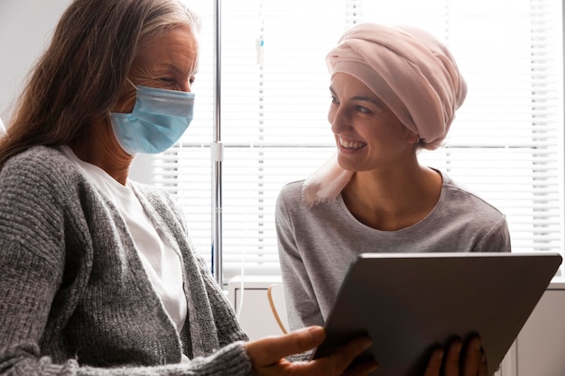
[(181, 209), (128, 179), (190, 124), (198, 29), (177, 0), (60, 19), (0, 141), (1, 374), (341, 374), (370, 343), (291, 363), (322, 328), (246, 342)]

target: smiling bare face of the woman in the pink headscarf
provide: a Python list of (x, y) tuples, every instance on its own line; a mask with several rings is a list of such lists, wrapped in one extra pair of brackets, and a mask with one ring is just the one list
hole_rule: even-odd
[(329, 87), (328, 120), (346, 170), (388, 169), (413, 160), (418, 135), (406, 128), (366, 85), (337, 73)]

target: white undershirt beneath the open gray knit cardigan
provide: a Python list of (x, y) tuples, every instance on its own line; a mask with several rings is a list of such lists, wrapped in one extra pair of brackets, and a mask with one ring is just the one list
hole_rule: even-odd
[(181, 332), (187, 316), (187, 301), (182, 286), (181, 260), (162, 234), (159, 234), (144, 211), (133, 187), (118, 183), (105, 170), (80, 160), (69, 146), (61, 146), (70, 160), (79, 165), (85, 176), (107, 197), (110, 197), (127, 229), (134, 238), (135, 249), (144, 264), (153, 289), (161, 298), (177, 332)]

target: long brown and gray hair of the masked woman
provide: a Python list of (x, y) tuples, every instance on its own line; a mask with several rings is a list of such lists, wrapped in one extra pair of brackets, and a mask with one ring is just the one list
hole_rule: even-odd
[(0, 137), (0, 169), (33, 145), (60, 145), (107, 116), (137, 51), (199, 17), (179, 0), (74, 0), (30, 73)]

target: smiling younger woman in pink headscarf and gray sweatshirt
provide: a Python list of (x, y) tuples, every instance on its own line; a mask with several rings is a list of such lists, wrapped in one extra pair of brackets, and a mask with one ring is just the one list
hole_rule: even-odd
[(324, 324), (358, 252), (510, 251), (504, 214), (418, 160), (467, 94), (449, 50), (428, 32), (361, 23), (327, 63), (337, 153), (276, 208), (292, 329)]

